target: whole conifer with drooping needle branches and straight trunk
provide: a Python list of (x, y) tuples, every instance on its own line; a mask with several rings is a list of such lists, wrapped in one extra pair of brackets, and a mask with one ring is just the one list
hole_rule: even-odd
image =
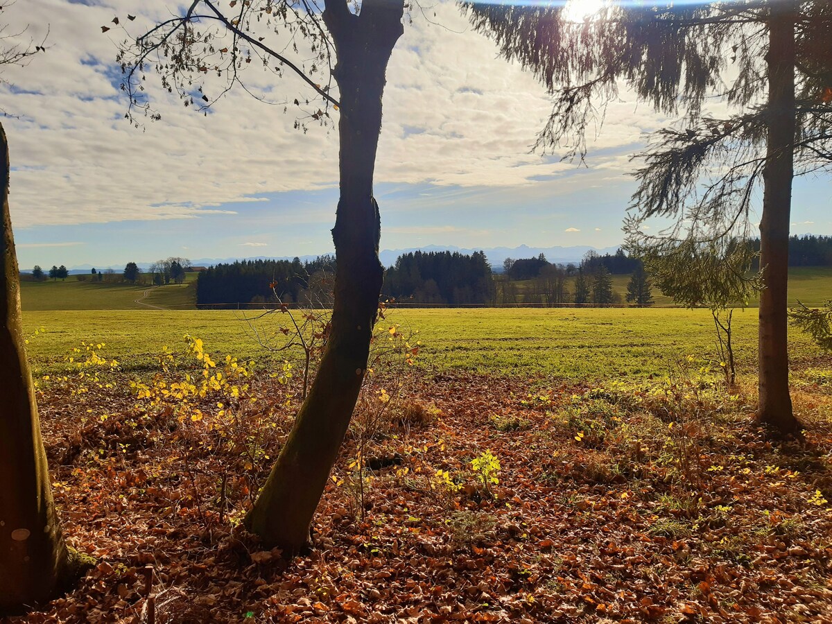
[[(683, 126), (657, 132), (636, 171), (631, 242), (662, 247), (747, 238), (762, 188), (759, 408), (798, 433), (789, 394), (788, 241), (795, 175), (832, 163), (832, 2), (617, 2), (570, 22), (557, 5), (465, 3), (474, 27), (552, 93), (537, 146), (584, 156), (586, 130), (625, 85)], [(727, 115), (709, 110), (721, 97)], [(704, 181), (704, 186), (701, 182)], [(649, 236), (643, 221), (671, 220)]]

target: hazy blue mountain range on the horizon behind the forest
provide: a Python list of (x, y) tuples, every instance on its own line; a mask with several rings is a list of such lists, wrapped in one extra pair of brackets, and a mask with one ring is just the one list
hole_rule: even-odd
[[(617, 249), (618, 246), (603, 247), (602, 249), (598, 249), (597, 247), (591, 247), (589, 245), (574, 245), (572, 247), (562, 247), (559, 245), (554, 247), (529, 247), (528, 245), (520, 245), (519, 247), (478, 247), (473, 249), (465, 249), (463, 247), (456, 247), (454, 245), (426, 245), (424, 247), (411, 247), (409, 249), (385, 249), (379, 252), (379, 258), (381, 259), (381, 263), (384, 266), (392, 266), (396, 263), (396, 259), (399, 258), (399, 255), (409, 254), (414, 251), (458, 251), (460, 254), (473, 254), (474, 251), (484, 251), (486, 257), (488, 258), (488, 262), (490, 262), (493, 267), (494, 272), (501, 273), (503, 271), (503, 260), (505, 260), (506, 258), (513, 258), (514, 260), (519, 260), (521, 258), (536, 258), (538, 255), (543, 254), (546, 256), (546, 259), (549, 262), (553, 262), (555, 264), (568, 264), (569, 262), (580, 262), (582, 257), (589, 250), (593, 250), (600, 255), (604, 255), (614, 254)], [(305, 261), (314, 260), (318, 257), (318, 255), (300, 255), (297, 257), (299, 257), (301, 261)], [(294, 255), (256, 255), (235, 258), (192, 258), (191, 264), (194, 266), (213, 266), (223, 263), (232, 263), (236, 260), (292, 260), (294, 257)], [(139, 262), (137, 264), (139, 265), (139, 268), (142, 271), (146, 271), (150, 269), (152, 263)], [(92, 270), (93, 266), (95, 266), (96, 270), (103, 271), (114, 270), (116, 272), (121, 272), (124, 270), (124, 266), (121, 265), (75, 265), (70, 267), (69, 272), (72, 275), (77, 275), (79, 273), (89, 273)]]

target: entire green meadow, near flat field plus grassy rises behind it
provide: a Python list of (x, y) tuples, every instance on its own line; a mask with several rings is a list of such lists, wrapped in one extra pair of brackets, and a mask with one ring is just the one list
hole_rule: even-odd
[[(615, 276), (626, 290), (626, 276)], [(822, 305), (832, 293), (832, 268), (793, 268), (790, 301)], [(285, 316), (257, 319), (255, 310), (193, 310), (196, 274), (182, 285), (158, 288), (77, 281), (22, 284), (27, 334), (46, 329), (29, 344), (38, 369), (54, 369), (82, 341), (106, 343), (106, 355), (125, 370), (152, 369), (163, 347), (180, 350), (183, 336), (201, 338), (217, 354), (254, 359), (298, 357), (270, 354), (258, 340), (274, 336)], [(687, 356), (714, 360), (715, 332), (707, 310), (653, 308), (449, 308), (394, 309), (380, 324), (400, 324), (418, 332), (418, 366), (462, 369), (482, 374), (532, 375), (564, 379), (650, 377), (667, 374)], [(753, 306), (753, 302), (751, 302)], [(740, 374), (753, 375), (756, 310), (737, 309), (734, 342)], [(791, 335), (795, 364), (820, 357), (803, 334)], [(718, 362), (714, 362), (718, 364)], [(797, 368), (801, 368), (798, 366)]]

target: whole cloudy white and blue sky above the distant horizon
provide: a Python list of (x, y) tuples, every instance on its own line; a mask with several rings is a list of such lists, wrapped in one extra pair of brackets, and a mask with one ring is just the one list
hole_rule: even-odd
[[(172, 0), (17, 0), (0, 15), (8, 42), (47, 47), (27, 67), (6, 67), (0, 86), (23, 270), (332, 252), (332, 126), (297, 131), (293, 106), (285, 113), (239, 88), (203, 115), (152, 80), (161, 121), (136, 128), (124, 118), (118, 44), (175, 9)], [(629, 156), (676, 120), (623, 92), (584, 164), (532, 153), (551, 109), (534, 78), (498, 57), (453, 3), (410, 17), (384, 92), (381, 247), (620, 244), (636, 186)], [(245, 80), (275, 102), (310, 97), (289, 73), (275, 81), (254, 67)], [(796, 181), (793, 233), (832, 234), (829, 182)]]

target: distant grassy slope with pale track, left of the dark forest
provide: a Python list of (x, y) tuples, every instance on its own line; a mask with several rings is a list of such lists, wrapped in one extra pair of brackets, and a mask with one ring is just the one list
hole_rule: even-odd
[[(158, 288), (149, 285), (130, 285), (120, 282), (78, 281), (70, 275), (66, 281), (24, 281), (20, 285), (21, 307), (35, 310), (150, 310), (141, 300), (159, 308), (176, 310), (196, 307), (196, 273), (187, 273), (185, 284), (171, 284)], [(145, 297), (145, 291), (147, 296)]]

